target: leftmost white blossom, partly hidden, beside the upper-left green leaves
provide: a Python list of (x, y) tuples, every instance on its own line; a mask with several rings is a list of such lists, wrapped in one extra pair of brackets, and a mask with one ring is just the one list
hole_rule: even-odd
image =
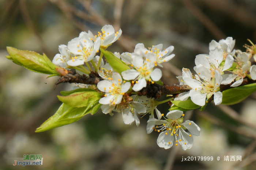
[(52, 60), (53, 64), (62, 68), (68, 67), (67, 61), (70, 60), (70, 51), (66, 45), (59, 46), (60, 54), (56, 54)]

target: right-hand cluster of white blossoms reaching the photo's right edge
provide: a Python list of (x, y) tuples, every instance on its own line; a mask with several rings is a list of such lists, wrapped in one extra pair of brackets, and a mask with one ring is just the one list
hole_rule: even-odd
[[(183, 68), (182, 76), (177, 78), (181, 85), (188, 85), (191, 90), (179, 94), (175, 100), (185, 101), (191, 97), (193, 103), (204, 106), (214, 95), (214, 103), (219, 105), (222, 103), (220, 85), (233, 82), (231, 87), (239, 86), (246, 76), (256, 80), (256, 65), (251, 66), (249, 61), (252, 50), (247, 50), (247, 53), (235, 50), (235, 42), (232, 37), (219, 42), (212, 40), (209, 44), (209, 55), (196, 56), (195, 76), (189, 69)], [(249, 46), (247, 47), (249, 49)], [(251, 48), (255, 48), (254, 45)]]

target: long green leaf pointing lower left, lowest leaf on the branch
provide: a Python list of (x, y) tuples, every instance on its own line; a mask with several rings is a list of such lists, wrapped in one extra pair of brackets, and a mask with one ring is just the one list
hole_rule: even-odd
[(98, 101), (96, 101), (90, 103), (87, 107), (75, 108), (63, 103), (57, 112), (46, 120), (39, 128), (37, 128), (35, 132), (44, 132), (53, 128), (74, 123), (89, 113), (93, 115), (98, 111), (100, 107), (99, 105), (100, 104)]

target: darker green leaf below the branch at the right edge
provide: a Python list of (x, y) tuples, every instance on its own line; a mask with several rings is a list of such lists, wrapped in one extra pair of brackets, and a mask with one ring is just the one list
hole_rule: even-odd
[(221, 104), (232, 105), (232, 104), (240, 103), (255, 91), (256, 91), (256, 83), (224, 90), (222, 92), (223, 97), (222, 97)]

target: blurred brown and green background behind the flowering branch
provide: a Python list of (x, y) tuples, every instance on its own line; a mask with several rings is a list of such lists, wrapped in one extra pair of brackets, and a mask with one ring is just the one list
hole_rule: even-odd
[[(146, 121), (125, 125), (121, 115), (86, 115), (50, 131), (35, 133), (57, 111), (56, 95), (72, 84), (58, 77), (30, 72), (4, 56), (6, 46), (45, 53), (50, 59), (81, 31), (96, 34), (105, 24), (123, 30), (112, 52), (132, 52), (163, 43), (176, 54), (165, 63), (162, 81), (178, 84), (182, 67), (193, 70), (195, 56), (208, 54), (208, 43), (232, 36), (235, 49), (245, 51), (246, 39), (256, 43), (255, 0), (0, 0), (0, 169), (48, 170), (253, 170), (256, 169), (256, 93), (232, 106), (208, 104), (204, 112), (185, 116), (201, 128), (193, 147), (165, 150), (158, 133), (147, 134)], [(252, 61), (252, 65), (255, 64)], [(162, 98), (161, 100), (164, 100)], [(166, 114), (168, 104), (158, 106)], [(11, 166), (7, 158), (42, 154), (42, 166)], [(225, 155), (242, 161), (223, 161)], [(213, 157), (186, 161), (182, 157)], [(217, 161), (217, 157), (221, 160)]]

